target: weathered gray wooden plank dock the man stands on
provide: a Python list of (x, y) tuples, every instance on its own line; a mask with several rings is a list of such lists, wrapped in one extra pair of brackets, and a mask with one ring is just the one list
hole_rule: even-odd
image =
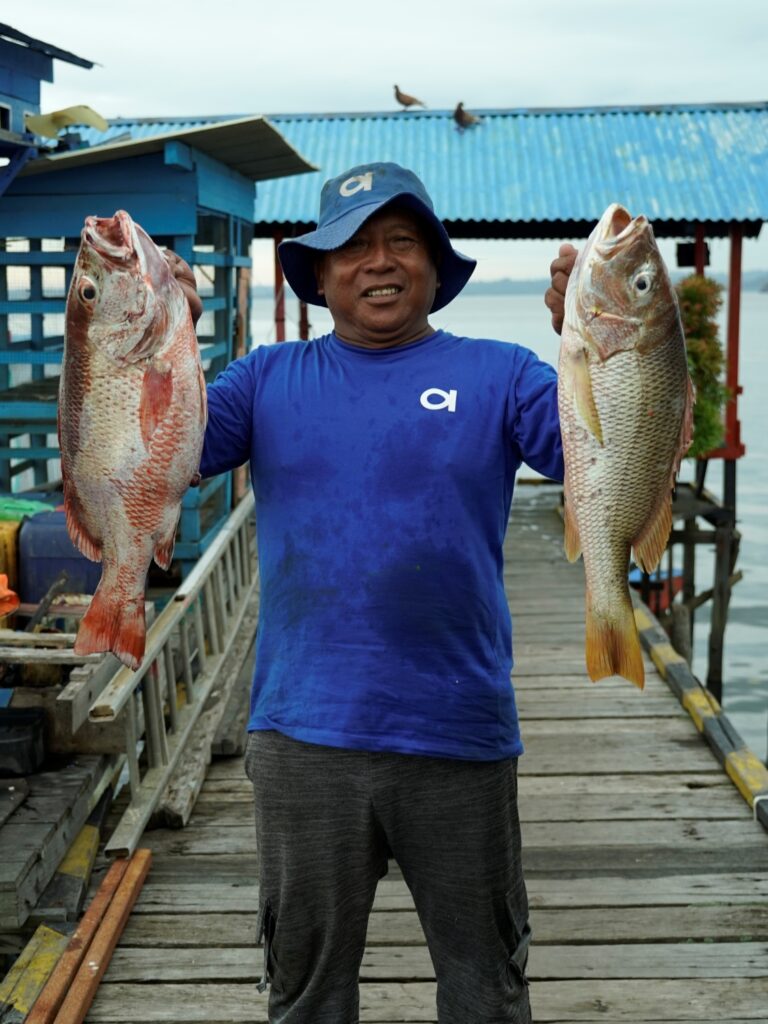
[[(768, 833), (650, 659), (643, 693), (589, 682), (583, 570), (562, 555), (552, 489), (522, 489), (507, 582), (535, 1020), (765, 1022)], [(145, 834), (155, 859), (91, 1024), (267, 1020), (250, 799), (242, 762), (219, 761), (184, 830)], [(436, 1021), (394, 867), (368, 941), (360, 1021)]]

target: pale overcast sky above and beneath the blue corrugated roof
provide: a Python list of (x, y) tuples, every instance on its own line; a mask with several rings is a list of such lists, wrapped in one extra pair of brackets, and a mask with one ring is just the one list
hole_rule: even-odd
[[(27, 0), (2, 20), (96, 63), (54, 61), (43, 112), (88, 103), (108, 120), (393, 111), (394, 82), (438, 110), (768, 99), (766, 0)], [(460, 248), (484, 280), (544, 276), (556, 255), (552, 242)], [(727, 243), (711, 250), (727, 269)], [(766, 228), (743, 268), (768, 268)], [(269, 243), (256, 244), (254, 282), (270, 281)]]

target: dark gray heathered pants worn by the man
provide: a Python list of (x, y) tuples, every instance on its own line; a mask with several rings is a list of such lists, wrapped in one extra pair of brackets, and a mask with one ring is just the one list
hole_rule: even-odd
[(440, 1024), (529, 1024), (517, 760), (367, 753), (253, 732), (270, 1024), (357, 1024), (378, 880), (398, 863)]

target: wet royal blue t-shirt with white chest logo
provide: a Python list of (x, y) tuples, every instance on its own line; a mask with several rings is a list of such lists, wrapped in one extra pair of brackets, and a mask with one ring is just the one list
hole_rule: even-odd
[(201, 472), (249, 461), (261, 607), (250, 730), (496, 760), (522, 752), (502, 544), (524, 460), (563, 475), (556, 374), (437, 331), (254, 349), (208, 388)]

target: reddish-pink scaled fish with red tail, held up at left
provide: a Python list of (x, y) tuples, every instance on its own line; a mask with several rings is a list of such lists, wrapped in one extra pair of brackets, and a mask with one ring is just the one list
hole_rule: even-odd
[(189, 307), (162, 252), (130, 216), (86, 217), (67, 297), (58, 396), (70, 537), (101, 562), (75, 652), (137, 669), (152, 559), (171, 564), (196, 475), (206, 389)]

